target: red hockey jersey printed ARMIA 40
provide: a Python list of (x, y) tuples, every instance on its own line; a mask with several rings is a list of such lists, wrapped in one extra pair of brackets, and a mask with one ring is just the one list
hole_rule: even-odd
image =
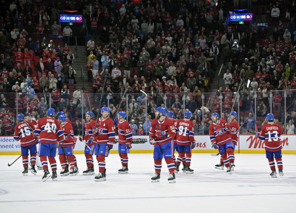
[(35, 135), (39, 135), (40, 143), (56, 143), (64, 139), (64, 132), (60, 122), (53, 117), (42, 117), (38, 119), (34, 130)]

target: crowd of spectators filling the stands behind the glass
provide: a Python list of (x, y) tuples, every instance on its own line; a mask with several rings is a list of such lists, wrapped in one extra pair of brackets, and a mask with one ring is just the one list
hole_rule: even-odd
[[(113, 118), (127, 89), (129, 98), (123, 97), (120, 110), (127, 110), (133, 133), (146, 134), (150, 120), (155, 117), (155, 107), (164, 105), (158, 90), (165, 94), (166, 105), (175, 112), (177, 119), (183, 117), (185, 110), (192, 111), (195, 134), (208, 133), (210, 113), (220, 112), (220, 101), (223, 102), (221, 119), (228, 118), (234, 92), (241, 82), (240, 111), (244, 113), (241, 125), (249, 117), (244, 125), (248, 130), (254, 129), (253, 114), (248, 112), (250, 102), (258, 109), (257, 116), (262, 115), (258, 117), (265, 117), (272, 103), (280, 118), (284, 114), (281, 90), (288, 93), (288, 106), (295, 99), (291, 90), (296, 87), (295, 2), (270, 1), (270, 6), (263, 7), (267, 2), (237, 2), (81, 0), (55, 3), (40, 0), (6, 3), (0, 19), (0, 93), (3, 95), (0, 107), (4, 110), (0, 116), (6, 120), (6, 114), (14, 117), (16, 106), (23, 111), (28, 106), (28, 112), (38, 119), (51, 102), (57, 112), (64, 111), (72, 119), (76, 132), (81, 130), (85, 122), (81, 117), (88, 107), (81, 101), (80, 89), (75, 88), (74, 55), (67, 47), (73, 33), (69, 26), (62, 31), (58, 25), (60, 10), (57, 8), (69, 6), (84, 15), (86, 27), (82, 25), (74, 36), (80, 37), (79, 42), (86, 46), (86, 69), (88, 81), (92, 82), (91, 98), (95, 106), (99, 105), (103, 92), (102, 105), (107, 105), (109, 100)], [(269, 16), (266, 20), (269, 28), (257, 23), (250, 27), (231, 23), (225, 26), (229, 11), (245, 7), (254, 14), (259, 8), (266, 8), (263, 12)], [(89, 40), (85, 42), (87, 32)], [(211, 83), (222, 60), (225, 85), (216, 90), (211, 88)], [(245, 88), (248, 79), (252, 83)], [(147, 107), (140, 90), (148, 94)], [(272, 100), (269, 98), (271, 90), (278, 90), (272, 92)], [(43, 91), (47, 105), (44, 105), (43, 94), (37, 94)], [(203, 108), (202, 120), (201, 95), (211, 91), (214, 93), (206, 97), (206, 102), (210, 96), (212, 101), (209, 109)], [(14, 104), (16, 93), (19, 94), (18, 105)], [(219, 93), (223, 94), (222, 100)], [(260, 105), (261, 100), (265, 106)], [(11, 111), (5, 104), (11, 106)], [(293, 104), (287, 110), (289, 113), (292, 107), (294, 110)], [(99, 113), (96, 107), (91, 110), (95, 115)], [(291, 117), (292, 124), (293, 119)]]

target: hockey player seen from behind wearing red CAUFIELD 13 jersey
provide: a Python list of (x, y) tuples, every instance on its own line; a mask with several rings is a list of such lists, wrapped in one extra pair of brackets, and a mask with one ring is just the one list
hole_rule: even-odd
[(278, 173), (283, 176), (283, 162), (282, 162), (282, 143), (279, 137), (282, 135), (282, 127), (273, 123), (274, 115), (273, 113), (268, 113), (266, 115), (268, 123), (264, 124), (260, 132), (256, 132), (256, 137), (260, 140), (264, 140), (265, 143), (265, 153), (268, 159), (269, 166), (271, 169), (270, 176), (277, 177), (277, 172), (275, 170), (274, 159), (277, 161)]

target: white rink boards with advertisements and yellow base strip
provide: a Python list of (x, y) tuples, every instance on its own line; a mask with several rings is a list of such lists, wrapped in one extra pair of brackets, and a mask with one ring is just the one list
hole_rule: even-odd
[[(218, 153), (212, 148), (209, 135), (195, 135), (197, 146), (192, 150), (193, 153)], [(283, 154), (296, 154), (296, 135), (282, 135), (279, 138), (282, 142)], [(84, 154), (84, 143), (75, 136), (76, 145), (74, 154)], [(134, 135), (132, 149), (130, 153), (153, 153), (153, 146), (148, 142), (148, 135)], [(115, 138), (113, 149), (110, 153), (118, 153), (118, 135)], [(265, 153), (264, 141), (259, 140), (254, 135), (240, 135), (238, 146), (235, 153)], [(15, 141), (12, 136), (0, 137), (0, 155), (20, 155), (20, 143)]]

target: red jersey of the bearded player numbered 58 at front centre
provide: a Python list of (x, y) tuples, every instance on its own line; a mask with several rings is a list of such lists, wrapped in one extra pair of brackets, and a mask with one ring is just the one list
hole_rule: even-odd
[[(165, 131), (165, 132), (167, 132), (167, 134), (169, 134), (169, 136), (165, 137), (165, 138), (158, 137), (155, 135), (155, 132), (157, 130)], [(154, 137), (157, 145), (162, 145), (162, 144), (170, 142), (171, 140), (174, 139), (175, 134), (176, 134), (175, 126), (174, 126), (174, 123), (171, 119), (164, 118), (163, 121), (160, 122), (157, 118), (155, 118), (151, 121), (151, 127), (149, 130), (149, 138)]]

